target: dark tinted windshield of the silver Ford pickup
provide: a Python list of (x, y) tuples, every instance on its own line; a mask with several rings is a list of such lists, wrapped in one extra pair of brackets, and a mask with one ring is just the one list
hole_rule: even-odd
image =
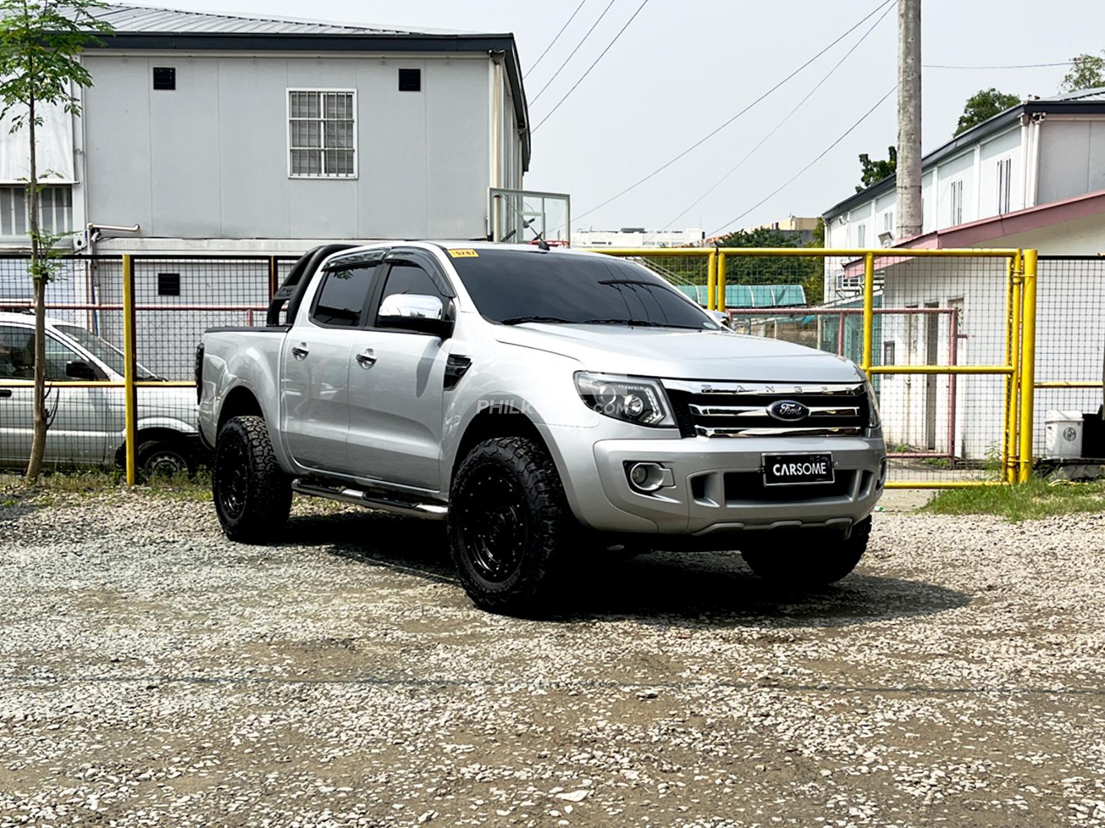
[(612, 256), (535, 250), (475, 251), (453, 266), (487, 320), (717, 330), (705, 311), (662, 278)]

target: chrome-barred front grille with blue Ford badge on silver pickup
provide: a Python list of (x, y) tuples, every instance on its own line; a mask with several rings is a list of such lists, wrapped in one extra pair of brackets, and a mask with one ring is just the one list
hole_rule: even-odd
[(860, 382), (827, 385), (664, 380), (664, 388), (684, 437), (855, 436), (863, 434), (869, 424), (867, 394)]

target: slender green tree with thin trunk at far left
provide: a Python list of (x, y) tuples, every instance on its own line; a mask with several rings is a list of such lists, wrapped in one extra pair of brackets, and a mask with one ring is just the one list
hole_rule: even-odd
[(34, 296), (34, 437), (27, 465), (27, 482), (39, 478), (46, 446), (45, 297), (46, 283), (55, 272), (51, 252), (57, 241), (39, 226), (38, 159), (35, 130), (42, 126), (44, 107), (61, 106), (80, 115), (74, 86), (91, 86), (92, 76), (81, 65), (80, 54), (94, 41), (94, 33), (112, 26), (94, 12), (105, 8), (98, 0), (0, 0), (0, 117), (11, 118), (11, 131), (27, 129), (30, 176), (27, 179), (28, 224), (31, 240), (29, 274)]

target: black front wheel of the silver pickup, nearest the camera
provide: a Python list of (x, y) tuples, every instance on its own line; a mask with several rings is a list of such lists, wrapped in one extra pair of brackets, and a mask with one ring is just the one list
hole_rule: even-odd
[(449, 544), (476, 606), (540, 614), (575, 527), (552, 458), (534, 440), (490, 439), (461, 463), (450, 500)]

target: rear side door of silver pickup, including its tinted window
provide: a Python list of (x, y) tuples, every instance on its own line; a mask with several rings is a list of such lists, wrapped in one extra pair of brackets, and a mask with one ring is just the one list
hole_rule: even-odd
[(377, 266), (383, 252), (360, 255), (327, 268), (308, 307), (284, 337), (281, 367), (281, 431), (302, 466), (322, 471), (350, 468), (349, 361), (366, 320)]

